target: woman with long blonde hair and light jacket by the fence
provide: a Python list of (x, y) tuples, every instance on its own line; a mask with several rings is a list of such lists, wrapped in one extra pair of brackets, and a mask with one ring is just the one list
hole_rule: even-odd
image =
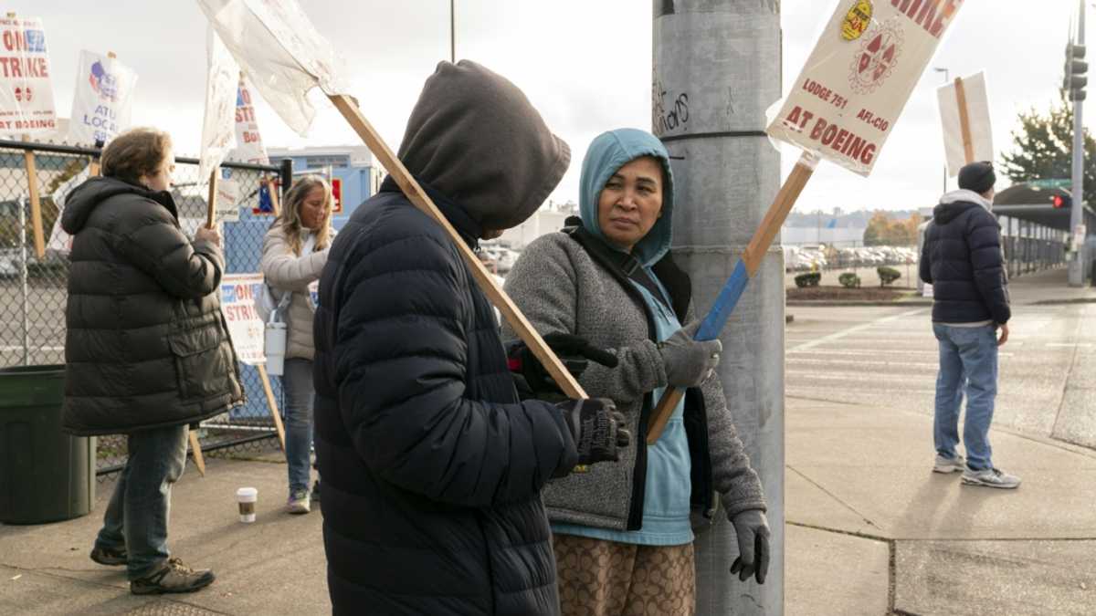
[(297, 180), (286, 193), (285, 207), (263, 238), (262, 269), (266, 284), (282, 300), (287, 340), (285, 373), (285, 457), (289, 470), (286, 511), (308, 513), (319, 498), (319, 481), (310, 495), (312, 448), (312, 315), (316, 305), (309, 285), (320, 278), (334, 238), (331, 228), (331, 184), (320, 175)]

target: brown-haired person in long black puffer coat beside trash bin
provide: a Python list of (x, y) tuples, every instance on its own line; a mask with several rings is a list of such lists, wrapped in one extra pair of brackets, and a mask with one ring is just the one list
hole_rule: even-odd
[(135, 128), (103, 151), (102, 172), (69, 194), (64, 427), (126, 434), (127, 459), (91, 558), (126, 566), (136, 594), (213, 582), (168, 551), (171, 484), (186, 464), (186, 427), (243, 402), (220, 311), (220, 236), (179, 226), (168, 192), (165, 133)]

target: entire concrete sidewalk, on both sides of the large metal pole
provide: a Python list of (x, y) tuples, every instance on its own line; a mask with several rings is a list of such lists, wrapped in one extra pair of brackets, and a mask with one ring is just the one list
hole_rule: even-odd
[[(1069, 614), (1096, 611), (1096, 452), (994, 431), (1015, 491), (934, 475), (932, 418), (789, 398), (787, 614)], [(171, 546), (217, 582), (137, 597), (121, 570), (88, 559), (95, 511), (0, 525), (0, 614), (324, 614), (321, 518), (282, 513), (285, 466), (208, 460), (172, 499)], [(258, 521), (233, 494), (259, 489)], [(706, 616), (706, 615), (705, 615)]]

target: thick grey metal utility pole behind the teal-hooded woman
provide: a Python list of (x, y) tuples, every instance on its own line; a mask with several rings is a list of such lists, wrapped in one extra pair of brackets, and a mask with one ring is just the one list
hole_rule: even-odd
[[(713, 304), (780, 184), (764, 133), (780, 98), (780, 3), (653, 0), (652, 130), (673, 159), (674, 255), (693, 278), (698, 313)], [(784, 611), (784, 255), (765, 255), (720, 336), (719, 375), (773, 528), (768, 579), (730, 574), (734, 528), (720, 512), (696, 540), (696, 613)]]

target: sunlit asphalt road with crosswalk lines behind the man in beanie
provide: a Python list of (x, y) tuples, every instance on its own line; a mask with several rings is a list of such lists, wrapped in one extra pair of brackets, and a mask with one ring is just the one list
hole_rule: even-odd
[[(929, 308), (789, 307), (789, 397), (933, 413)], [(1014, 306), (994, 426), (1096, 448), (1096, 305)], [(1004, 464), (1004, 461), (1002, 463)]]

